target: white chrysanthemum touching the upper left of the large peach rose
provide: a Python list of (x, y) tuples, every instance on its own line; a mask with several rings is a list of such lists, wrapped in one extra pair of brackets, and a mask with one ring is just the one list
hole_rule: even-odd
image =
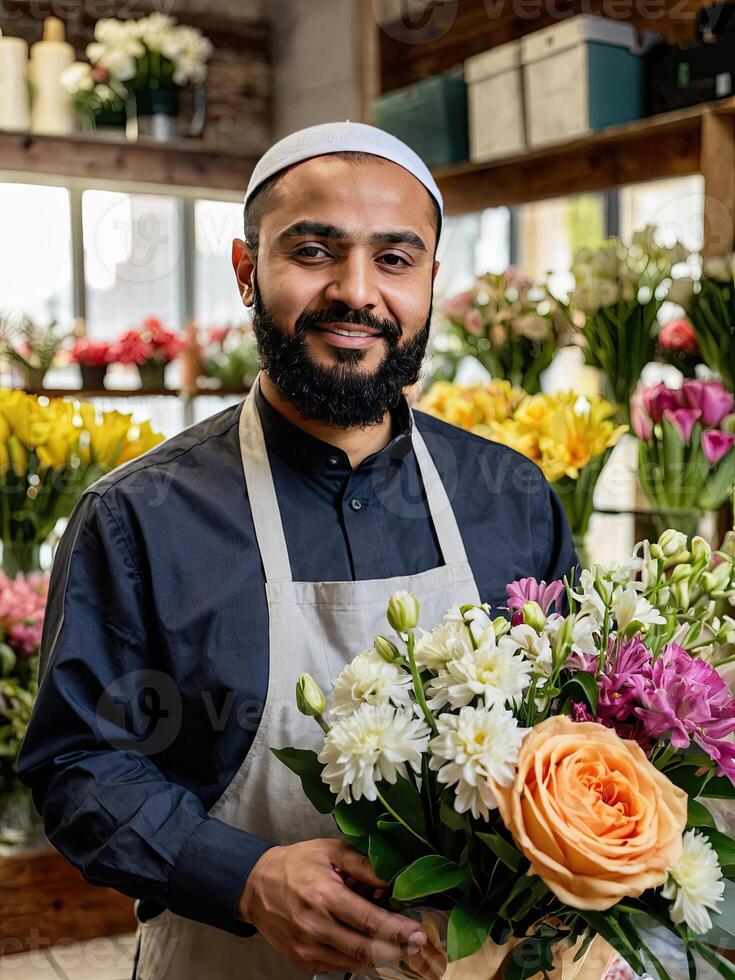
[(519, 728), (513, 714), (500, 704), (440, 715), (437, 728), (438, 734), (429, 742), (429, 766), (438, 770), (440, 783), (456, 787), (458, 813), (469, 810), (473, 817), (487, 820), (498, 805), (487, 780), (511, 785), (528, 729)]

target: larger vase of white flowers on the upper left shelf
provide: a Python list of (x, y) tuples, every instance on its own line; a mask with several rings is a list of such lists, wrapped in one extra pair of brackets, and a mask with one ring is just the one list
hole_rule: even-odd
[(139, 20), (103, 18), (94, 37), (87, 57), (125, 85), (138, 131), (160, 140), (176, 136), (180, 93), (189, 84), (204, 82), (211, 42), (196, 28), (162, 13)]

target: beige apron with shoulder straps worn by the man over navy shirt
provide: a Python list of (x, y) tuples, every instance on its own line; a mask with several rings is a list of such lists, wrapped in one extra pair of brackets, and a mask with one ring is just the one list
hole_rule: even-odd
[[(308, 671), (325, 691), (376, 633), (388, 629), (388, 598), (407, 589), (421, 602), (421, 623), (439, 623), (458, 602), (479, 602), (472, 570), (449, 499), (424, 441), (413, 425), (413, 449), (445, 564), (418, 575), (361, 582), (294, 582), (255, 402), (240, 416), (240, 449), (255, 533), (263, 562), (270, 618), (268, 694), (253, 743), (240, 769), (209, 811), (212, 816), (279, 844), (339, 836), (318, 813), (298, 778), (269, 751), (294, 745), (319, 750), (322, 733), (295, 704), (296, 681)], [(246, 638), (243, 639), (246, 643)], [(243, 670), (247, 660), (243, 657)], [(136, 980), (303, 980), (260, 936), (243, 938), (175, 915), (168, 909), (138, 928)]]

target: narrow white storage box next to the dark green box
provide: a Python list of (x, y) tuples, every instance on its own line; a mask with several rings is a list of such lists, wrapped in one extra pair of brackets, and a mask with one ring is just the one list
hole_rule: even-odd
[(464, 77), (470, 160), (482, 163), (522, 153), (526, 148), (526, 127), (520, 41), (468, 58)]

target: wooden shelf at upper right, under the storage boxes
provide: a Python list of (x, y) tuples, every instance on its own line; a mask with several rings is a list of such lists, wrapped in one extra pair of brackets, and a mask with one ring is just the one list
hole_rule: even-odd
[(447, 214), (605, 190), (701, 172), (703, 126), (729, 120), (735, 98), (613, 126), (489, 163), (434, 168)]

